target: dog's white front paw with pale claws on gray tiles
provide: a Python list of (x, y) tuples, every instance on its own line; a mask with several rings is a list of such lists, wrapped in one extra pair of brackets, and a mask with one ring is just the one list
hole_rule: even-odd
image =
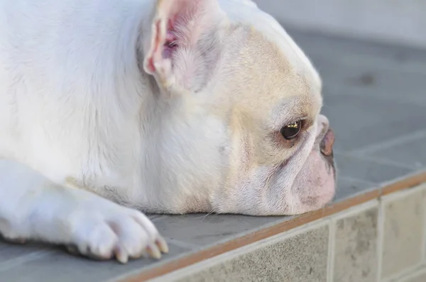
[(114, 256), (125, 264), (129, 259), (152, 256), (160, 259), (168, 252), (168, 244), (146, 215), (111, 204), (92, 210), (76, 210), (72, 217), (71, 254), (92, 259), (111, 259)]

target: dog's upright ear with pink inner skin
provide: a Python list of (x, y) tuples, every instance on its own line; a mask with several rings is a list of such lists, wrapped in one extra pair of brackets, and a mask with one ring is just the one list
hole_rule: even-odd
[(144, 50), (144, 71), (163, 91), (191, 90), (199, 72), (208, 69), (202, 57), (209, 47), (202, 45), (212, 44), (208, 35), (222, 18), (217, 0), (158, 0)]

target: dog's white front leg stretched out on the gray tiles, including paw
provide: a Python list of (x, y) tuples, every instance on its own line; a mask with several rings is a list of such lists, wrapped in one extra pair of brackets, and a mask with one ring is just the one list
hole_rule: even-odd
[(168, 252), (143, 213), (78, 188), (54, 184), (18, 162), (0, 160), (0, 233), (5, 239), (66, 244), (98, 259), (125, 263)]

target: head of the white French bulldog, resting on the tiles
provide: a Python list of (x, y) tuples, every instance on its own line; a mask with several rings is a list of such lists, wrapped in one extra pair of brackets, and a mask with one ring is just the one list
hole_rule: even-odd
[(151, 20), (146, 210), (291, 215), (331, 201), (320, 77), (279, 24), (245, 0), (157, 1)]

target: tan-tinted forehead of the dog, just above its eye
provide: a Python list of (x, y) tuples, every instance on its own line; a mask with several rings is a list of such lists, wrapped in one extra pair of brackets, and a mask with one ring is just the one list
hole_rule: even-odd
[(251, 23), (232, 23), (230, 30), (225, 61), (230, 87), (238, 86), (231, 92), (236, 106), (277, 127), (314, 119), (322, 106), (321, 81), (291, 38)]

